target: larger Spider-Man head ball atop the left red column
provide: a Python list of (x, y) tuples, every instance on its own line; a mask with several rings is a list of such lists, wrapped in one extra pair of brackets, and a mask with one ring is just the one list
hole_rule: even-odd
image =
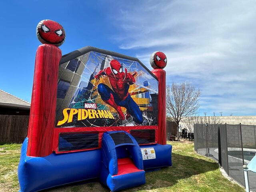
[(36, 35), (42, 44), (61, 46), (65, 40), (65, 30), (57, 22), (42, 20), (36, 27)]

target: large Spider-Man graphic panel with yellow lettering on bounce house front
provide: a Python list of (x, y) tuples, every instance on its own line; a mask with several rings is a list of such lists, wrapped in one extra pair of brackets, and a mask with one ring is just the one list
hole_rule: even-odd
[(57, 127), (157, 125), (157, 103), (158, 81), (137, 61), (91, 51), (60, 64)]

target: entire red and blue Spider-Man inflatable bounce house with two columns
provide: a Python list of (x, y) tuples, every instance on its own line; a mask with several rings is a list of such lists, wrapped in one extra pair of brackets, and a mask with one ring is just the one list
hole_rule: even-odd
[(166, 145), (166, 66), (93, 47), (62, 56), (65, 31), (36, 28), (28, 136), (18, 166), (21, 192), (99, 179), (112, 192), (146, 183), (148, 169), (172, 166)]

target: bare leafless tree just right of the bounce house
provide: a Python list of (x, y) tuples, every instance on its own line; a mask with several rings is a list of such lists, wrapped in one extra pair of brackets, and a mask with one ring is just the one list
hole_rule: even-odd
[(184, 117), (194, 116), (199, 108), (200, 90), (189, 82), (173, 83), (166, 89), (166, 112), (170, 114), (177, 125), (177, 140), (179, 140), (179, 124)]

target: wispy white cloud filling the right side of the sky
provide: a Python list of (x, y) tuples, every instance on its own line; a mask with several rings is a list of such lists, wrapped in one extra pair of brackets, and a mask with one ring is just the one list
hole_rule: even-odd
[(126, 1), (125, 7), (112, 15), (120, 48), (134, 50), (148, 67), (152, 52), (164, 52), (167, 82), (198, 86), (201, 110), (255, 115), (254, 0)]

